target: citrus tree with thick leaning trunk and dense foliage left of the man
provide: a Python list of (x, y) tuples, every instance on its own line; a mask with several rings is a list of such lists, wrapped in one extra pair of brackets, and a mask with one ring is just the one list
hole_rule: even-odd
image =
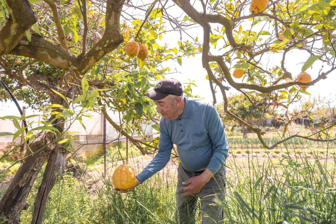
[[(157, 43), (165, 28), (162, 10), (154, 6), (143, 11), (143, 20), (133, 16), (121, 20), (123, 0), (0, 1), (1, 79), (17, 99), (41, 110), (40, 122), (45, 125), (32, 129), (28, 123), (29, 131), (24, 133), (26, 128), (18, 122), (37, 115), (2, 117), (12, 120), (18, 131), (1, 135), (29, 141), (25, 158), (17, 161), (23, 163), (0, 202), (4, 222), (19, 222), (32, 184), (47, 161), (32, 220), (41, 223), (55, 183), (59, 145), (76, 140), (69, 128), (64, 129), (64, 122), (81, 122), (82, 116), (90, 116), (88, 110), (101, 110), (143, 154), (157, 149), (155, 143), (132, 138), (134, 132), (144, 133), (142, 124), (157, 127), (153, 102), (143, 94), (153, 86), (150, 81), (172, 72), (164, 62), (181, 64), (181, 57), (194, 48), (181, 51)], [(145, 55), (125, 52), (131, 39), (144, 47)], [(9, 99), (3, 89), (0, 94), (1, 100)], [(121, 119), (112, 120), (107, 110), (120, 113)]]

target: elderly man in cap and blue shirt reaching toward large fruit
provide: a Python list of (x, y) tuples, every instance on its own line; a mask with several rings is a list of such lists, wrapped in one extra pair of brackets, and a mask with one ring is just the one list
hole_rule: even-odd
[(228, 144), (216, 109), (211, 103), (184, 97), (181, 83), (171, 78), (160, 80), (145, 96), (156, 103), (157, 111), (162, 115), (159, 150), (136, 176), (135, 185), (127, 191), (160, 171), (168, 163), (175, 144), (180, 159), (177, 168), (176, 222), (195, 222), (199, 197), (202, 223), (221, 223), (223, 211), (214, 203), (214, 198), (224, 198), (224, 164)]

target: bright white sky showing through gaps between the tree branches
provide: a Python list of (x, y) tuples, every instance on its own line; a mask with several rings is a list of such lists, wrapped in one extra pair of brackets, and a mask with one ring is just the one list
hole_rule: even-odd
[[(199, 9), (202, 11), (201, 9)], [(172, 13), (174, 16), (180, 16), (183, 14), (181, 9), (179, 7), (173, 7), (168, 9), (168, 13)], [(139, 12), (137, 11), (137, 14)], [(141, 13), (143, 14), (143, 13)], [(184, 14), (183, 14), (184, 16)], [(182, 17), (183, 17), (182, 16)], [(140, 17), (141, 18), (141, 17)], [(243, 30), (247, 29), (244, 27), (244, 24), (242, 24)], [(170, 30), (170, 28), (167, 28), (167, 30)], [(188, 31), (191, 36), (199, 37), (200, 42), (203, 40), (203, 30), (202, 28), (193, 28), (192, 30)], [(188, 38), (186, 35), (182, 36), (183, 38)], [(163, 38), (161, 40), (161, 44), (166, 42), (168, 44), (169, 48), (177, 47), (177, 41), (180, 39), (179, 32), (167, 32), (166, 35), (163, 35)], [(220, 42), (217, 44), (217, 49), (220, 46)], [(224, 50), (218, 51), (215, 49), (211, 50), (212, 54), (222, 54)], [(289, 53), (286, 54), (286, 63), (285, 67), (289, 72), (292, 73), (293, 77), (295, 77), (297, 74), (301, 72), (302, 68), (302, 63), (304, 63), (310, 55), (306, 51), (290, 51)], [(264, 63), (267, 64), (267, 68), (271, 68), (274, 66), (279, 66), (280, 67), (280, 62), (282, 60), (282, 54), (277, 53), (277, 54), (271, 54), (271, 57), (267, 59), (265, 57)], [(178, 79), (181, 83), (184, 82), (189, 82), (188, 79), (194, 80), (194, 83), (197, 85), (197, 87), (193, 87), (193, 94), (199, 95), (202, 98), (205, 98), (207, 101), (212, 101), (212, 95), (209, 87), (209, 81), (206, 80), (206, 75), (207, 72), (206, 70), (202, 67), (202, 61), (201, 61), (201, 54), (197, 54), (195, 57), (189, 57), (189, 58), (182, 58), (182, 66), (180, 66), (177, 62), (169, 61), (168, 62), (170, 68), (176, 68), (177, 73), (175, 74), (169, 74), (166, 75), (166, 77), (171, 77), (171, 78), (176, 78)], [(316, 78), (318, 76), (318, 73), (321, 69), (322, 63), (320, 61), (316, 61), (313, 64), (313, 68), (309, 68), (306, 70), (307, 73), (309, 73), (312, 77), (312, 79)], [(323, 71), (326, 71), (326, 68), (324, 68)], [(236, 79), (234, 78), (236, 82), (241, 82), (241, 79)], [(225, 85), (226, 83), (223, 82)], [(314, 86), (310, 86), (306, 91), (308, 91), (312, 96), (318, 96), (321, 95), (322, 97), (328, 97), (330, 99), (335, 99), (336, 98), (336, 72), (334, 71), (333, 73), (330, 73), (327, 76), (327, 79), (325, 80), (320, 80), (318, 83), (316, 83)], [(219, 91), (219, 88), (216, 88), (217, 93), (216, 93), (216, 98), (217, 102), (222, 101), (222, 96)], [(238, 91), (231, 89), (228, 91), (228, 94), (237, 94)], [(308, 96), (305, 96), (307, 98)], [(19, 102), (19, 105), (22, 106), (27, 106), (24, 104), (24, 102)], [(27, 108), (27, 114), (32, 114), (33, 112), (30, 111), (29, 108)], [(13, 102), (7, 102), (7, 103), (0, 103), (0, 116), (4, 115), (18, 115), (18, 111), (16, 109), (16, 106)]]

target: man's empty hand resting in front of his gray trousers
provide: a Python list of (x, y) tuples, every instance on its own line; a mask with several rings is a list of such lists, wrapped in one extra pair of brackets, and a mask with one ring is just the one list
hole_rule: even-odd
[(181, 191), (185, 191), (181, 194), (182, 197), (190, 196), (193, 194), (197, 194), (202, 190), (204, 185), (209, 182), (212, 177), (212, 172), (209, 169), (205, 169), (205, 171), (196, 177), (192, 177), (189, 180), (184, 181), (182, 184), (190, 186), (181, 187)]

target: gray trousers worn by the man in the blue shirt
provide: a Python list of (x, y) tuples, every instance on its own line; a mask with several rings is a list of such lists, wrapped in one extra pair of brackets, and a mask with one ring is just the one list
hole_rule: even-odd
[(204, 185), (199, 193), (187, 197), (181, 197), (181, 194), (184, 193), (181, 191), (181, 187), (188, 186), (182, 184), (182, 182), (201, 174), (186, 171), (180, 163), (177, 168), (175, 204), (176, 223), (189, 224), (196, 222), (195, 215), (198, 198), (200, 198), (201, 201), (202, 223), (223, 223), (222, 220), (224, 218), (224, 213), (221, 207), (214, 203), (214, 200), (217, 200), (215, 198), (218, 198), (219, 201), (224, 200), (225, 174), (226, 168), (222, 165), (214, 177), (212, 177), (210, 181)]

